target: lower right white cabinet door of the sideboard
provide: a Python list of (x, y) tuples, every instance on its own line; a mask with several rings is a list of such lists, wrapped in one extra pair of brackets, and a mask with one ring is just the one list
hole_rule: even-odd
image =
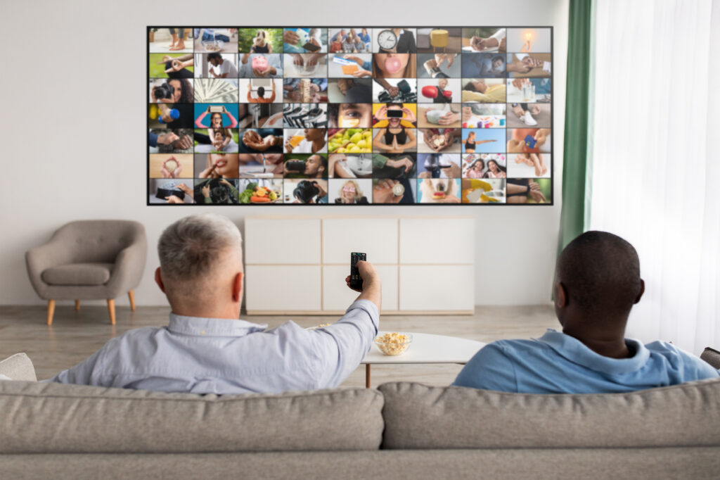
[(472, 311), (472, 265), (400, 265), (400, 311)]

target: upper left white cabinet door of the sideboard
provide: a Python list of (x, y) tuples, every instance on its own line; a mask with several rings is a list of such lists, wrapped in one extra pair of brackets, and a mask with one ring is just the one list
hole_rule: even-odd
[(246, 218), (245, 263), (320, 264), (320, 219)]

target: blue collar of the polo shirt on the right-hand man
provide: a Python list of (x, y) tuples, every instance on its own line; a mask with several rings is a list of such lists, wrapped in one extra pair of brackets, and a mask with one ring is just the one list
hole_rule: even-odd
[(548, 345), (572, 363), (603, 373), (635, 372), (640, 370), (650, 357), (650, 352), (645, 345), (642, 345), (639, 340), (631, 338), (625, 339), (625, 344), (635, 350), (635, 355), (630, 358), (605, 357), (593, 352), (575, 337), (557, 332), (555, 329), (547, 329), (542, 337), (534, 340)]

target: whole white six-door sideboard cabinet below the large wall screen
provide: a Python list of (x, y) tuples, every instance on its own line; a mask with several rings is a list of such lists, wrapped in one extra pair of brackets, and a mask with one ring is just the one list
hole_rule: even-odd
[(382, 314), (472, 314), (474, 218), (252, 216), (245, 219), (248, 314), (342, 314), (350, 253), (382, 278)]

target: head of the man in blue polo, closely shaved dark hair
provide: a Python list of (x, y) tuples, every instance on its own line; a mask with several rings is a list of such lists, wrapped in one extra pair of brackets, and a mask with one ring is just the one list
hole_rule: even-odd
[(634, 247), (617, 235), (587, 231), (567, 244), (555, 270), (555, 313), (564, 329), (622, 329), (645, 285)]

